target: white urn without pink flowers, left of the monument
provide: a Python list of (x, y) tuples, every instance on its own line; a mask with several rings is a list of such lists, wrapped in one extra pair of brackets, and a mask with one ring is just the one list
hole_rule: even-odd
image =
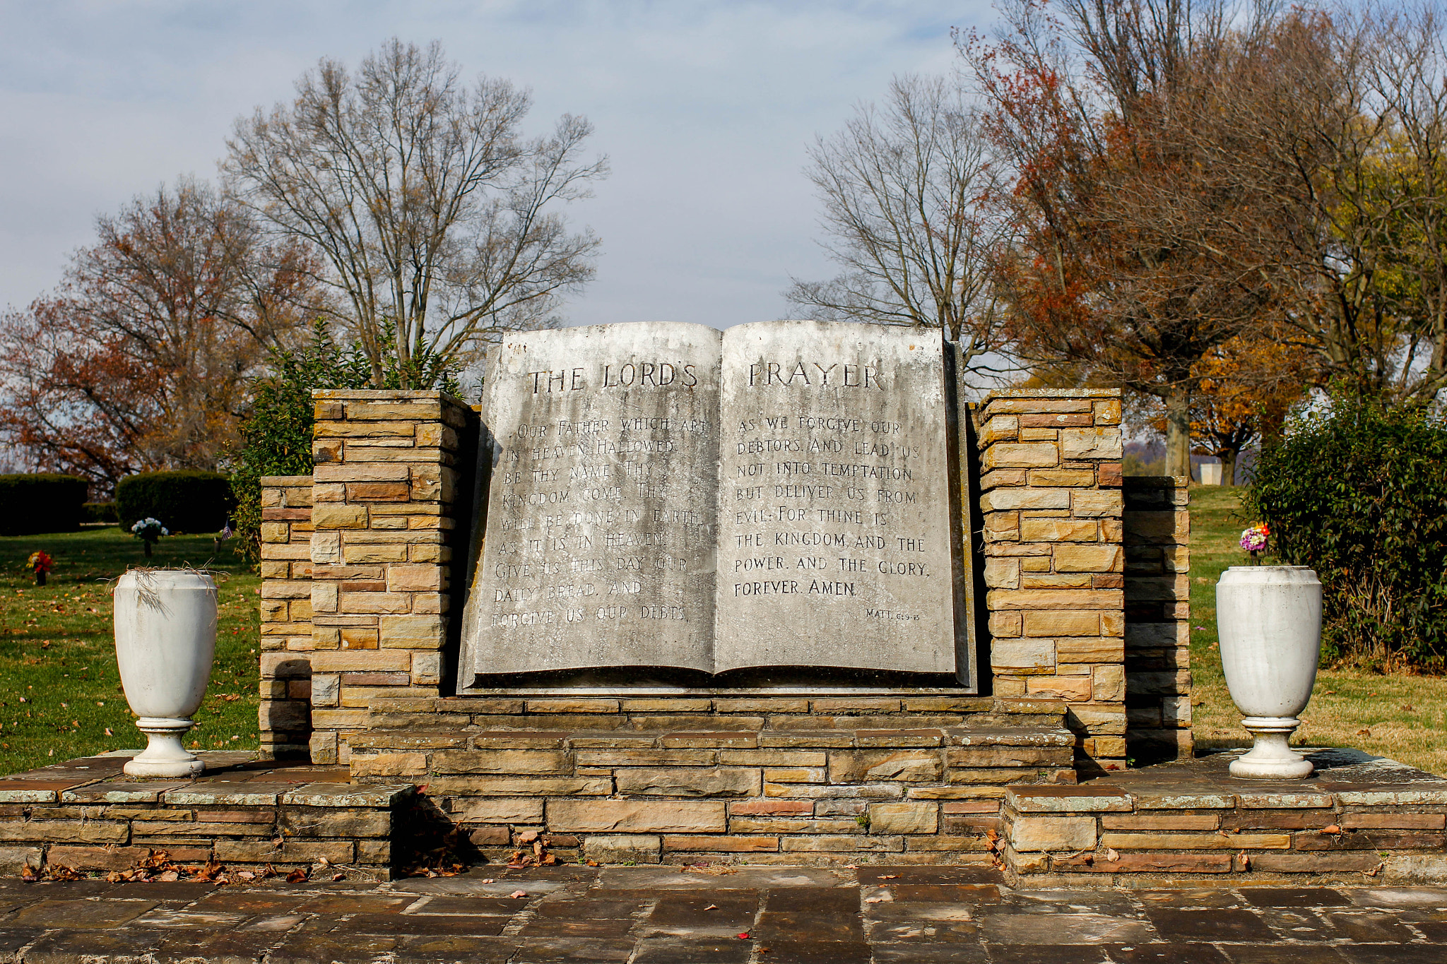
[(113, 598), (120, 682), (148, 737), (126, 773), (198, 776), (205, 765), (181, 740), (211, 676), (216, 582), (194, 571), (130, 569)]

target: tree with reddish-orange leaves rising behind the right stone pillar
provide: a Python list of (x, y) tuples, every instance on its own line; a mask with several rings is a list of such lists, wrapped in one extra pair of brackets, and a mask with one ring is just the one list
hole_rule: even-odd
[(1224, 3), (1017, 0), (1010, 32), (961, 43), (1010, 159), (1013, 244), (996, 256), (1017, 351), (1158, 399), (1166, 471), (1189, 473), (1198, 366), (1276, 292), (1252, 150), (1215, 123), (1250, 46)]

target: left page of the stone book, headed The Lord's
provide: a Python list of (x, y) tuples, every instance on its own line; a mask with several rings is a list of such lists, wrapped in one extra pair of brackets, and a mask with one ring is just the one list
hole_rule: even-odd
[(464, 685), (543, 669), (713, 671), (721, 334), (637, 322), (498, 347)]

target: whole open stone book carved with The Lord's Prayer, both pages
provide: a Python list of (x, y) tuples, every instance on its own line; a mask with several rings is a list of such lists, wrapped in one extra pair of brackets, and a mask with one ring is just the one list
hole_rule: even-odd
[(938, 338), (528, 332), (501, 347), (483, 419), (473, 673), (956, 671)]

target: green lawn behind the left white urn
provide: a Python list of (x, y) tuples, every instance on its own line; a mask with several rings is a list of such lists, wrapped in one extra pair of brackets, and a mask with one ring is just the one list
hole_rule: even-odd
[[(55, 559), (43, 587), (25, 568), (36, 549)], [(153, 558), (143, 552), (139, 539), (114, 526), (0, 538), (0, 773), (145, 746), (116, 669), (109, 585), (139, 565), (210, 561), (227, 574), (217, 575), (211, 685), (188, 743), (256, 749), (260, 580), (230, 548), (214, 552), (210, 536), (172, 536), (156, 543)]]

